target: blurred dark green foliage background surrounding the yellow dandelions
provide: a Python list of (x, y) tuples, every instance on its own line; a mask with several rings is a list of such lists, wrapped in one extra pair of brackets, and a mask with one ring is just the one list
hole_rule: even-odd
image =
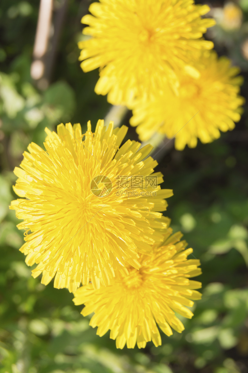
[[(59, 1), (55, 1), (55, 5)], [(200, 258), (203, 298), (185, 331), (162, 337), (161, 347), (116, 350), (109, 334), (98, 337), (72, 303), (67, 289), (31, 277), (18, 249), (23, 232), (8, 206), (16, 196), (13, 168), (29, 142), (42, 145), (44, 128), (58, 121), (107, 115), (106, 97), (94, 93), (98, 72), (84, 74), (77, 62), (81, 16), (88, 1), (69, 1), (53, 80), (47, 90), (30, 77), (39, 1), (2, 0), (0, 11), (0, 373), (247, 373), (248, 372), (248, 122), (245, 108), (235, 130), (211, 144), (183, 152), (163, 149), (157, 170), (173, 188), (167, 214)], [(222, 9), (223, 2), (213, 3)], [(248, 38), (248, 1), (241, 0), (242, 26), (209, 37), (247, 76), (242, 43)], [(246, 96), (248, 82), (242, 87)], [(123, 123), (128, 125), (128, 113)], [(128, 137), (137, 139), (135, 129)]]

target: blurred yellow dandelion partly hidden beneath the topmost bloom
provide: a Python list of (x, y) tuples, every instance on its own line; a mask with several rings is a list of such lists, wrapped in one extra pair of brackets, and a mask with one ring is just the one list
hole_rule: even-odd
[(178, 96), (165, 86), (151, 100), (137, 100), (131, 125), (137, 126), (139, 138), (149, 140), (156, 132), (168, 138), (175, 136), (175, 147), (186, 144), (194, 148), (197, 138), (203, 143), (220, 137), (235, 127), (241, 117), (244, 99), (239, 96), (242, 77), (230, 66), (227, 57), (218, 59), (214, 51), (206, 51), (198, 63), (199, 79), (183, 75)]

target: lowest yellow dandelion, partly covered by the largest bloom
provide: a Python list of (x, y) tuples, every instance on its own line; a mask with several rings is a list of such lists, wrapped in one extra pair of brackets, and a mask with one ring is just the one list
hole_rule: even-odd
[[(190, 277), (201, 274), (200, 261), (187, 257), (192, 249), (180, 242), (180, 232), (171, 235), (168, 229), (162, 245), (153, 247), (152, 254), (142, 255), (139, 270), (129, 267), (128, 275), (118, 275), (109, 286), (94, 289), (91, 284), (75, 292), (76, 305), (85, 304), (82, 314), (94, 312), (90, 321), (98, 326), (97, 334), (103, 336), (110, 329), (110, 338), (116, 339), (116, 347), (145, 347), (148, 341), (161, 345), (158, 327), (168, 336), (172, 329), (181, 333), (182, 322), (175, 312), (191, 319), (193, 313), (187, 308), (192, 300), (201, 298), (195, 289), (201, 288)], [(185, 307), (187, 306), (187, 307)], [(157, 324), (157, 325), (156, 325)]]

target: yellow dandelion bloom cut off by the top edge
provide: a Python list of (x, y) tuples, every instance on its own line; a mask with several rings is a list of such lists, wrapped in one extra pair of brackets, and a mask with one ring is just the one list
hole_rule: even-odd
[(198, 76), (195, 54), (213, 48), (200, 38), (215, 21), (193, 0), (100, 0), (89, 10), (83, 33), (92, 38), (79, 42), (79, 60), (84, 72), (100, 68), (95, 92), (112, 104), (129, 106), (166, 80), (176, 89), (177, 71)]

